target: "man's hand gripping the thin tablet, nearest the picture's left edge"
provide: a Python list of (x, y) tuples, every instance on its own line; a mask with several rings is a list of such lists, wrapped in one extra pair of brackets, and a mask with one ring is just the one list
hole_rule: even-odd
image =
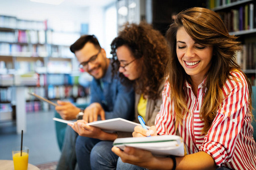
[(80, 112), (80, 109), (75, 107), (70, 102), (67, 101), (57, 101), (58, 106), (55, 107), (55, 110), (60, 114), (61, 118), (64, 120), (73, 120), (76, 118), (76, 115)]

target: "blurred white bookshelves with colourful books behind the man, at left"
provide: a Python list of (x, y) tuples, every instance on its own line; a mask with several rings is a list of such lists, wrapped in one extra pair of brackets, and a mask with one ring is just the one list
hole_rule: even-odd
[(13, 120), (13, 106), (23, 117), (51, 109), (28, 91), (53, 101), (89, 96), (89, 90), (79, 86), (78, 63), (69, 50), (81, 33), (50, 27), (47, 20), (0, 15), (0, 122)]

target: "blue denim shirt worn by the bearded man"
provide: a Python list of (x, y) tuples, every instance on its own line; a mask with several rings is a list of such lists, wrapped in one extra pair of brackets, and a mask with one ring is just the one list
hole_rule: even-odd
[[(103, 86), (103, 88), (102, 88)], [(123, 86), (119, 76), (112, 77), (112, 63), (101, 79), (93, 78), (90, 84), (90, 103), (100, 103), (105, 111), (105, 118), (134, 118), (134, 90), (133, 87)]]

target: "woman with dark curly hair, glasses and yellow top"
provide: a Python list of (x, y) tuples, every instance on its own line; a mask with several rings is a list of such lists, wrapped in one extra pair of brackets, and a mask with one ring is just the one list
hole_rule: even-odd
[[(121, 76), (121, 82), (133, 82), (135, 89), (135, 118), (142, 116), (146, 125), (155, 124), (155, 116), (162, 104), (164, 71), (170, 55), (167, 40), (151, 27), (141, 22), (125, 24), (112, 41), (113, 73)], [(107, 133), (105, 133), (107, 135)], [(131, 133), (118, 132), (116, 138), (131, 137)], [(90, 152), (90, 168), (115, 169), (118, 156), (112, 152), (113, 141), (101, 138)], [(81, 159), (79, 159), (81, 160)], [(86, 167), (85, 162), (79, 166)], [(88, 167), (88, 165), (87, 165)], [(89, 169), (89, 167), (87, 168)]]

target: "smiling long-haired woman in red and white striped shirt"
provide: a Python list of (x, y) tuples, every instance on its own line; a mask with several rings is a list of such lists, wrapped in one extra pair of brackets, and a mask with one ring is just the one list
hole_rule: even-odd
[(113, 147), (121, 158), (117, 169), (256, 169), (251, 84), (235, 62), (236, 37), (216, 12), (194, 7), (177, 14), (167, 39), (162, 107), (155, 126), (136, 126), (133, 136), (180, 135), (188, 155)]

